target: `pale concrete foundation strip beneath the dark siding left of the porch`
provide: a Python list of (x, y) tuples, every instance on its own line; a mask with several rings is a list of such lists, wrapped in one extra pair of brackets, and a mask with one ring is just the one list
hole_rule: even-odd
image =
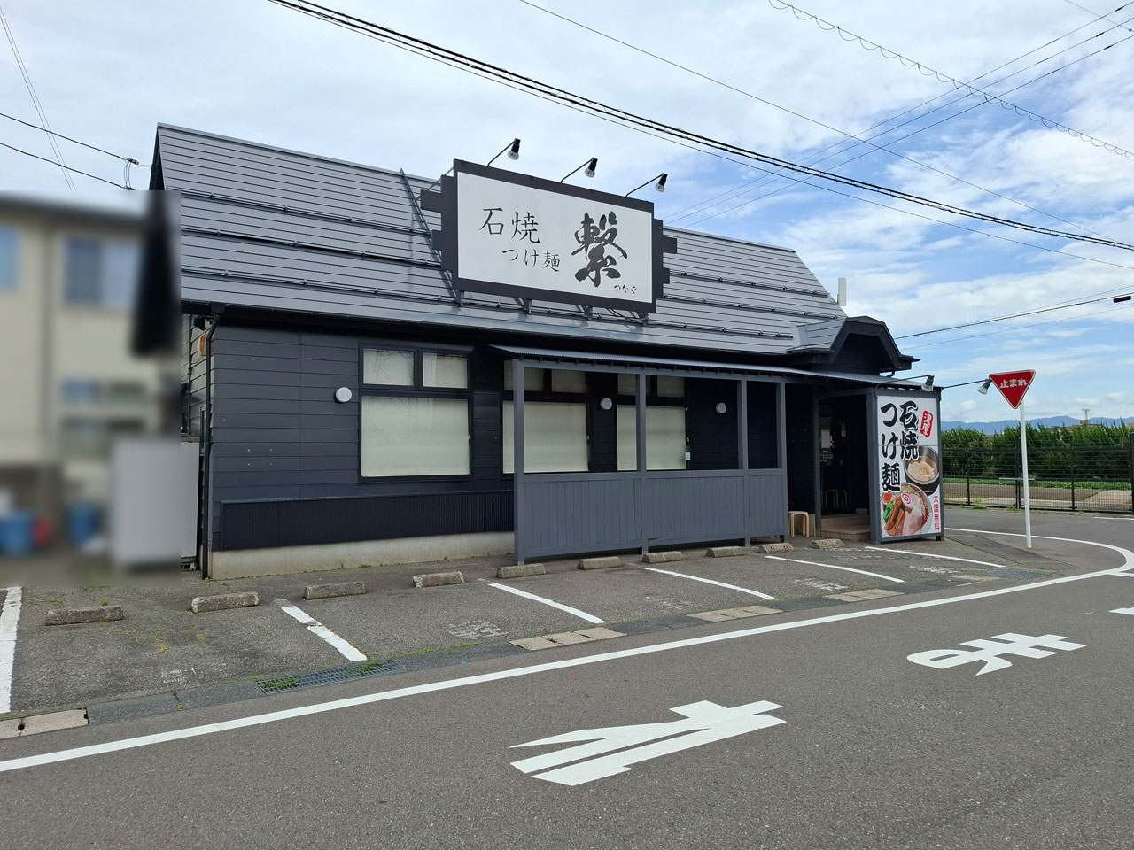
[(209, 553), (209, 576), (215, 579), (284, 576), (313, 570), (503, 555), (511, 551), (511, 532), (397, 537), (319, 546), (226, 550)]

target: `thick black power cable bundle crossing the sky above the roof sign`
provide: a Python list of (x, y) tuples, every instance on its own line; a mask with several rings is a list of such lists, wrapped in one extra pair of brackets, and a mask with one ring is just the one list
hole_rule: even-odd
[[(308, 0), (269, 0), (278, 6), (291, 9), (294, 11), (299, 11), (304, 15), (308, 15), (321, 20), (335, 24), (347, 29), (353, 29), (362, 34), (369, 35), (376, 40), (383, 41), (388, 44), (399, 46), (404, 50), (411, 52), (426, 56), (431, 59), (442, 61), (448, 65), (464, 66), (466, 68), (479, 71), (482, 76), (491, 77), (493, 79), (507, 80), (515, 87), (521, 87), (528, 93), (540, 93), (548, 99), (552, 99), (560, 103), (569, 103), (578, 107), (589, 113), (594, 113), (599, 116), (608, 116), (613, 120), (624, 125), (637, 125), (640, 127), (645, 127), (666, 136), (674, 138), (682, 138), (693, 142), (699, 145), (706, 147), (712, 147), (718, 151), (723, 151), (733, 155), (742, 156), (744, 159), (751, 159), (755, 162), (772, 165), (775, 168), (787, 169), (790, 171), (796, 171), (798, 173), (804, 173), (810, 177), (818, 177), (823, 180), (831, 182), (841, 184), (844, 186), (852, 186), (854, 188), (863, 189), (879, 195), (885, 195), (887, 197), (892, 197), (898, 201), (907, 201), (921, 206), (928, 206), (931, 209), (940, 210), (942, 212), (953, 213), (956, 215), (962, 215), (965, 218), (976, 219), (980, 221), (987, 221), (995, 224), (1000, 224), (1004, 227), (1017, 228), (1021, 230), (1026, 230), (1034, 233), (1040, 233), (1043, 236), (1052, 236), (1060, 239), (1073, 239), (1076, 241), (1086, 241), (1095, 245), (1103, 245), (1107, 247), (1123, 248), (1125, 250), (1134, 250), (1134, 245), (1128, 245), (1126, 243), (1120, 243), (1112, 239), (1097, 238), (1091, 236), (1083, 236), (1082, 233), (1070, 233), (1067, 231), (1055, 230), (1051, 228), (1043, 228), (1038, 224), (1029, 224), (1026, 222), (1014, 221), (1012, 219), (1004, 219), (997, 215), (989, 215), (987, 213), (981, 213), (974, 210), (967, 210), (965, 207), (956, 206), (946, 202), (934, 201), (932, 198), (921, 197), (919, 195), (913, 195), (911, 193), (902, 192), (899, 189), (892, 189), (887, 186), (880, 186), (877, 184), (871, 184), (865, 180), (858, 180), (852, 177), (845, 177), (841, 175), (836, 175), (828, 171), (822, 171), (820, 169), (811, 168), (807, 165), (802, 165), (799, 163), (790, 162), (788, 160), (782, 160), (777, 156), (771, 156), (770, 154), (760, 153), (752, 151), (739, 145), (734, 145), (727, 142), (721, 142), (718, 139), (703, 136), (692, 130), (682, 129), (671, 125), (667, 125), (662, 121), (658, 121), (650, 118), (644, 118), (642, 116), (628, 112), (623, 109), (609, 107), (604, 103), (595, 101), (591, 97), (584, 95), (574, 94), (562, 88), (558, 88), (548, 83), (541, 83), (531, 77), (526, 77), (516, 71), (510, 71), (498, 66), (490, 65), (479, 59), (473, 59), (471, 57), (457, 53), (456, 51), (449, 50), (447, 48), (441, 48), (431, 42), (426, 42), (422, 39), (405, 35), (389, 27), (374, 24), (372, 22), (365, 20), (363, 18), (357, 18), (346, 12), (329, 9), (323, 6), (310, 2)], [(903, 211), (904, 212), (904, 211)]]

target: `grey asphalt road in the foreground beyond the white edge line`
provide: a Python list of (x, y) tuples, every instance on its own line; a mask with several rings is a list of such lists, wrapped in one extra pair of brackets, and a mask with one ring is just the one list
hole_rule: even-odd
[[(1040, 525), (1036, 534), (1052, 530)], [(1076, 527), (1082, 536), (1088, 525)], [(1092, 534), (1127, 547), (1134, 536), (1117, 525)], [(1124, 563), (1088, 551), (1075, 555), (1084, 568)], [(1134, 571), (1134, 559), (1126, 566)], [(1134, 615), (1111, 611), (1134, 610), (1134, 578), (1088, 575), (716, 623), (677, 641), (641, 635), (6, 741), (2, 843), (1125, 850)], [(981, 660), (939, 669), (962, 658), (962, 641), (1006, 634), (1053, 636), (1057, 648), (990, 652), (989, 668), (996, 658), (1010, 666), (980, 675)], [(686, 708), (706, 720), (659, 730), (663, 740), (713, 734), (697, 729), (735, 734), (670, 743), (676, 751), (611, 775), (594, 755), (557, 774), (579, 784), (555, 781), (555, 765), (513, 765), (579, 742), (516, 745), (682, 721), (670, 709), (705, 700), (722, 708)], [(713, 716), (761, 700), (779, 707)], [(760, 716), (782, 722), (743, 731)], [(227, 721), (254, 724), (202, 728)], [(69, 751), (174, 730), (194, 737)], [(44, 756), (67, 760), (37, 763)], [(24, 757), (32, 763), (12, 762)]]

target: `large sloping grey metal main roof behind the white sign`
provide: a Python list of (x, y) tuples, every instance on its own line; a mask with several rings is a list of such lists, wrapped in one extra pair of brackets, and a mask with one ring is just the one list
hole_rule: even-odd
[(440, 216), (414, 203), (434, 181), (168, 125), (153, 173), (181, 192), (184, 301), (750, 355), (812, 347), (845, 317), (795, 252), (675, 228), (645, 320), (476, 292), (458, 304), (430, 238)]

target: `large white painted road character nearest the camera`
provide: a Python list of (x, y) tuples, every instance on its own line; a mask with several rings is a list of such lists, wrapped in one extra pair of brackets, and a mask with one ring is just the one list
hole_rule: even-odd
[[(516, 747), (542, 747), (551, 743), (578, 743), (578, 746), (513, 762), (511, 766), (524, 773), (534, 773), (535, 779), (547, 782), (581, 785), (584, 782), (626, 773), (632, 764), (638, 762), (779, 725), (784, 721), (765, 712), (781, 707), (768, 700), (738, 705), (735, 708), (726, 708), (708, 700), (679, 705), (670, 711), (686, 720), (607, 729), (581, 729), (577, 732), (517, 743)], [(570, 764), (572, 762), (575, 764)]]

